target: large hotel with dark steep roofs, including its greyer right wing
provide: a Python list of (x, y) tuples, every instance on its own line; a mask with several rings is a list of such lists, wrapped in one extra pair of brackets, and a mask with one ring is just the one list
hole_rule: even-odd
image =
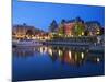
[[(97, 21), (84, 22), (81, 17), (63, 21), (59, 25), (59, 32), (64, 36), (97, 36), (101, 32), (101, 25)], [(86, 33), (87, 32), (87, 33)]]

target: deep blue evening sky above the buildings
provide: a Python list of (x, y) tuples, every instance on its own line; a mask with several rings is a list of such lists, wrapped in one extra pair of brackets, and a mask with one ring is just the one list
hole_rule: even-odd
[(41, 2), (17, 2), (13, 0), (13, 24), (33, 25), (48, 31), (52, 20), (58, 23), (80, 16), (86, 21), (98, 21), (105, 26), (105, 8), (90, 5), (55, 4)]

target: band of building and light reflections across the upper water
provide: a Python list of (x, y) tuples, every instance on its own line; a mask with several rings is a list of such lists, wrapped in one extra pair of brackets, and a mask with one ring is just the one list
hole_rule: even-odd
[(99, 63), (104, 60), (104, 54), (92, 54), (86, 50), (76, 50), (74, 47), (62, 46), (38, 46), (13, 48), (13, 56), (27, 58), (35, 55), (48, 55), (52, 62), (59, 60), (61, 63), (82, 66), (87, 61)]

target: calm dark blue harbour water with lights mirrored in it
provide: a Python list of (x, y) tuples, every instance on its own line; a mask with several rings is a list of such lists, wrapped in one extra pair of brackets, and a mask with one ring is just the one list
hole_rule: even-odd
[[(84, 48), (84, 47), (83, 47)], [(13, 48), (13, 81), (104, 75), (104, 52), (74, 46)]]

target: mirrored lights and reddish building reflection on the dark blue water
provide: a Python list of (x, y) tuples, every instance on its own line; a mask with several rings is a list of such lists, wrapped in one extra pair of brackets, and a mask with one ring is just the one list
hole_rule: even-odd
[[(86, 50), (86, 52), (84, 51), (74, 51), (72, 50), (72, 48), (66, 48), (66, 47), (52, 47), (52, 46), (38, 46), (38, 47), (34, 47), (34, 48), (22, 48), (22, 49), (13, 49), (13, 51), (15, 51), (16, 55), (19, 56), (31, 56), (34, 55), (34, 51), (38, 55), (49, 55), (49, 57), (55, 61), (57, 59), (60, 59), (60, 61), (70, 63), (70, 65), (82, 65), (82, 62), (84, 61), (92, 61), (92, 62), (100, 62), (102, 59), (101, 57), (97, 56), (97, 55), (89, 55), (88, 50)], [(45, 54), (47, 52), (47, 54)], [(101, 56), (101, 55), (100, 55)]]

